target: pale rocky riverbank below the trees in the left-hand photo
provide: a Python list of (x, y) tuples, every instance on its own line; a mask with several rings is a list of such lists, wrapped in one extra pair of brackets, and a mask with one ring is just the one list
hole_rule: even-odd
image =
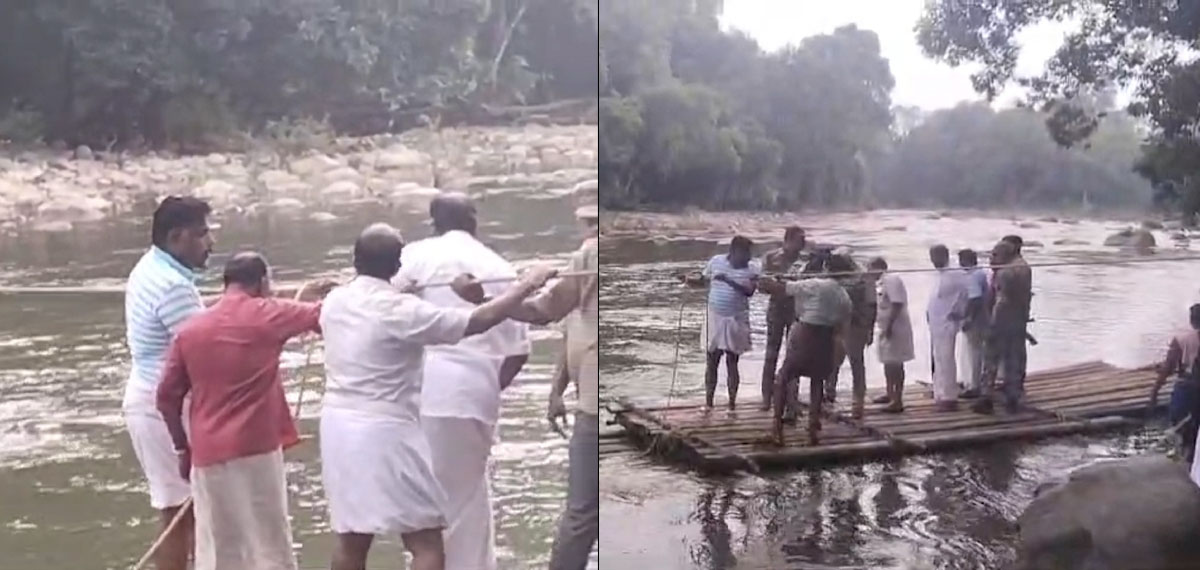
[(66, 232), (168, 194), (202, 197), (218, 212), (302, 210), (316, 222), (346, 204), (424, 208), (434, 188), (553, 198), (596, 178), (596, 150), (595, 125), (530, 125), (341, 138), (299, 155), (265, 145), (206, 156), (0, 152), (0, 229)]

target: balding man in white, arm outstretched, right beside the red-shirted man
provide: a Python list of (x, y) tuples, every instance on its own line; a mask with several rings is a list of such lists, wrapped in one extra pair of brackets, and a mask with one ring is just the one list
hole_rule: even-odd
[(332, 570), (366, 568), (377, 534), (398, 534), (413, 554), (413, 570), (446, 568), (446, 498), (420, 426), (425, 347), (490, 330), (554, 275), (536, 268), (478, 307), (438, 307), (391, 284), (403, 245), (388, 224), (365, 229), (354, 244), (358, 276), (322, 306), (320, 458), (337, 534)]

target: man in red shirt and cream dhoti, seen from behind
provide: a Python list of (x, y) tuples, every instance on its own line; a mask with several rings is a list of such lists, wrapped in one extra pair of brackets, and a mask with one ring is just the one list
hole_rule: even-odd
[[(306, 287), (305, 293), (328, 293)], [(257, 253), (224, 268), (224, 293), (172, 342), (158, 410), (191, 480), (196, 570), (295, 570), (283, 449), (299, 442), (280, 378), (292, 337), (318, 332), (320, 304), (271, 296)], [(184, 397), (191, 392), (190, 436)]]

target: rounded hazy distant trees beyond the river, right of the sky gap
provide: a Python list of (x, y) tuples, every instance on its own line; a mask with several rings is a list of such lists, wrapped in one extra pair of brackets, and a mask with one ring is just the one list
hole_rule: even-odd
[(1111, 209), (1150, 204), (1133, 172), (1140, 136), (1127, 115), (1100, 125), (1087, 148), (1064, 149), (1028, 109), (961, 104), (908, 131), (881, 164), (886, 205)]

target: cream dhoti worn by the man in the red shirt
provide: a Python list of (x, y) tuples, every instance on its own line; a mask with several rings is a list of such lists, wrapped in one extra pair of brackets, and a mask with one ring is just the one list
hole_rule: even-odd
[(283, 451), (192, 469), (196, 570), (296, 570)]

